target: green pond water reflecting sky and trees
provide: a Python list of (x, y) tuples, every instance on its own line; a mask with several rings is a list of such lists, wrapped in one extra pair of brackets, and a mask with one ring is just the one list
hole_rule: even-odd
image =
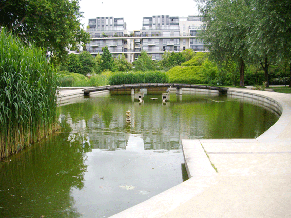
[(197, 94), (79, 98), (59, 112), (59, 133), (0, 162), (0, 217), (109, 217), (187, 179), (182, 138), (256, 138), (279, 118)]

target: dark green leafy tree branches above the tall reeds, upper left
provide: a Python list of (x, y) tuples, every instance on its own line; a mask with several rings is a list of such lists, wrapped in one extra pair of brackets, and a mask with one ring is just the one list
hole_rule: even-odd
[(26, 43), (46, 49), (52, 60), (63, 60), (66, 48), (85, 45), (89, 34), (80, 28), (79, 0), (3, 0), (0, 27), (7, 27)]

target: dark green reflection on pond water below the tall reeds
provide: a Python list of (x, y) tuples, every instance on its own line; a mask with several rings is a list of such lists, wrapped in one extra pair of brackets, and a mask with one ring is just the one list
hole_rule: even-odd
[(84, 187), (84, 152), (60, 134), (1, 163), (1, 217), (80, 217), (70, 192)]

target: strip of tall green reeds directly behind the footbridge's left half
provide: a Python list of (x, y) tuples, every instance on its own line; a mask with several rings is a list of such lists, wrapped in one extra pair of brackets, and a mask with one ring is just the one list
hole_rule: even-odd
[(135, 83), (168, 83), (165, 73), (153, 72), (119, 72), (114, 73), (108, 78), (110, 85), (135, 84)]

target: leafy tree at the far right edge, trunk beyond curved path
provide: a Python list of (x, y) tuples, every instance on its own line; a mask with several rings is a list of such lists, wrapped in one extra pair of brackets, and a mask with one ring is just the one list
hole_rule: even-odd
[[(253, 9), (248, 23), (253, 25), (249, 34), (249, 50), (265, 72), (268, 86), (270, 64), (287, 60), (291, 66), (291, 2), (288, 0), (250, 0)], [(291, 87), (291, 67), (290, 85)]]

